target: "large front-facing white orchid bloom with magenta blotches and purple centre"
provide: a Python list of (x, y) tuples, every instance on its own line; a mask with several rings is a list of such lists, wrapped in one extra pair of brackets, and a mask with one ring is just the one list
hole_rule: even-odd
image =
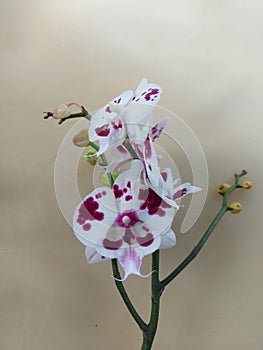
[(176, 242), (171, 229), (175, 209), (138, 180), (138, 166), (132, 171), (120, 174), (112, 189), (101, 187), (87, 195), (73, 218), (88, 262), (116, 258), (124, 279), (130, 274), (142, 276), (142, 258)]

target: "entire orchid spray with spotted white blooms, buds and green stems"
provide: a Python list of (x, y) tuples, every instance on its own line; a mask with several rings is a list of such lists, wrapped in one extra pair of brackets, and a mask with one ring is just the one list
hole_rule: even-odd
[[(228, 201), (237, 188), (248, 189), (249, 181), (239, 184), (246, 174), (235, 174), (232, 185), (217, 189), (221, 208), (189, 255), (167, 277), (159, 276), (159, 252), (173, 247), (176, 236), (172, 225), (183, 197), (201, 190), (191, 183), (177, 185), (170, 168), (160, 168), (155, 141), (168, 124), (164, 118), (153, 125), (153, 110), (162, 88), (143, 79), (135, 92), (127, 90), (94, 114), (78, 103), (68, 103), (47, 112), (59, 124), (72, 118), (85, 118), (89, 128), (73, 139), (78, 147), (87, 147), (85, 158), (103, 169), (102, 185), (88, 194), (75, 209), (73, 230), (86, 247), (91, 264), (111, 260), (116, 287), (127, 309), (143, 334), (142, 350), (152, 348), (158, 325), (160, 298), (167, 285), (198, 255), (226, 212), (239, 213), (241, 204)], [(72, 107), (78, 108), (73, 112)], [(106, 157), (110, 155), (111, 161)], [(198, 184), (197, 184), (198, 185)], [(142, 275), (144, 256), (152, 254), (152, 271)], [(123, 269), (123, 276), (119, 271)], [(151, 313), (145, 322), (130, 300), (123, 281), (131, 274), (151, 276)]]

